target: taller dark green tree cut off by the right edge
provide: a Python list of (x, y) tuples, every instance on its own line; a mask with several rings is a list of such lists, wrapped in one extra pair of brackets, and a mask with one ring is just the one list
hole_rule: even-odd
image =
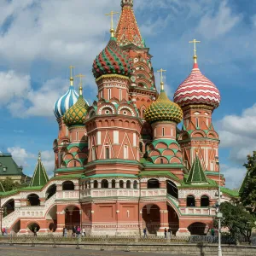
[(247, 155), (247, 163), (243, 166), (247, 168), (247, 176), (240, 190), (241, 203), (256, 215), (256, 151)]

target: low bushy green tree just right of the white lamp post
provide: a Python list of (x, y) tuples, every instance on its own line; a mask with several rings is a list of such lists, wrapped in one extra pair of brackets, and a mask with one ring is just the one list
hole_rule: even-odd
[(253, 228), (256, 227), (256, 218), (247, 212), (246, 208), (237, 200), (220, 204), (220, 212), (223, 213), (222, 227), (230, 230), (230, 236), (237, 238), (244, 236), (250, 241)]

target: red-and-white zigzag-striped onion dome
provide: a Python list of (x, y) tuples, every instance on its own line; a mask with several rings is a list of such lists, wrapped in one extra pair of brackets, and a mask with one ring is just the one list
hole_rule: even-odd
[(195, 63), (189, 77), (183, 81), (174, 93), (173, 101), (180, 107), (193, 104), (205, 104), (218, 108), (220, 103), (219, 90), (207, 79)]

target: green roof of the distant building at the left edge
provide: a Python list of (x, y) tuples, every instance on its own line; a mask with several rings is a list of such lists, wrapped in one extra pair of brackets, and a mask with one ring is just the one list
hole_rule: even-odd
[(22, 166), (18, 166), (9, 153), (0, 152), (0, 175), (1, 176), (15, 176), (24, 175)]

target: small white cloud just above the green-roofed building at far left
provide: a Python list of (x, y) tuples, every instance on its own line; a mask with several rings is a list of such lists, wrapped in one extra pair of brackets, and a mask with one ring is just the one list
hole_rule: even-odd
[(29, 164), (27, 163), (27, 160), (35, 158), (35, 155), (27, 152), (25, 148), (10, 147), (10, 148), (7, 148), (7, 151), (10, 154), (12, 154), (18, 166), (27, 167), (29, 166)]

